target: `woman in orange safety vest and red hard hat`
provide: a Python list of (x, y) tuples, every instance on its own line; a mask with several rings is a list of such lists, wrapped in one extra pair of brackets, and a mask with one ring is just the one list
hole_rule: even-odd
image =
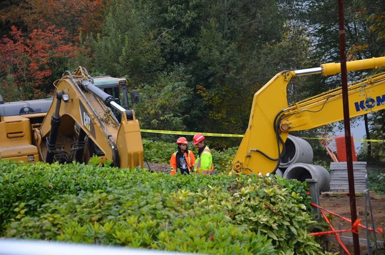
[(172, 153), (170, 159), (171, 175), (176, 174), (177, 169), (180, 169), (182, 174), (190, 174), (190, 172), (194, 171), (194, 153), (187, 148), (186, 138), (178, 138), (176, 144), (178, 144), (178, 151)]

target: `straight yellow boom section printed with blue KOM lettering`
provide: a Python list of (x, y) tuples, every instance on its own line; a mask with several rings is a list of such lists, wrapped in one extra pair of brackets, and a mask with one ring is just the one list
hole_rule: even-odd
[[(385, 72), (348, 86), (349, 114), (356, 117), (385, 109)], [(326, 114), (328, 113), (328, 114)], [(281, 131), (307, 130), (343, 120), (341, 87), (297, 102), (285, 111)]]

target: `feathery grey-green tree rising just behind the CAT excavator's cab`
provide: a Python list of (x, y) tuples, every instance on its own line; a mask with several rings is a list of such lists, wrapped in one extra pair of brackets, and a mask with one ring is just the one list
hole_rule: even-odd
[(112, 0), (100, 34), (90, 38), (94, 52), (93, 70), (112, 76), (126, 75), (129, 87), (151, 84), (162, 59), (154, 29), (149, 23), (152, 13), (142, 1)]

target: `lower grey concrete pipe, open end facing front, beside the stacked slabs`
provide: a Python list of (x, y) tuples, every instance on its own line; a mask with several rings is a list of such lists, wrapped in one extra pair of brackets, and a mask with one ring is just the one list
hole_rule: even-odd
[(286, 180), (295, 179), (301, 182), (304, 182), (306, 179), (315, 179), (318, 182), (320, 192), (330, 190), (330, 173), (322, 166), (295, 163), (286, 169), (283, 178)]

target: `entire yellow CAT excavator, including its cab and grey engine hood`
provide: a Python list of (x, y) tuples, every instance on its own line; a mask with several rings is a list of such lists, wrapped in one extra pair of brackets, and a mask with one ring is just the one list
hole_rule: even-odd
[[(79, 66), (54, 82), (52, 99), (4, 103), (0, 97), (0, 158), (87, 163), (97, 155), (100, 163), (110, 160), (119, 168), (142, 168), (140, 127), (128, 107), (126, 83), (110, 76), (91, 77)], [(131, 99), (132, 104), (139, 100), (136, 91)]]

